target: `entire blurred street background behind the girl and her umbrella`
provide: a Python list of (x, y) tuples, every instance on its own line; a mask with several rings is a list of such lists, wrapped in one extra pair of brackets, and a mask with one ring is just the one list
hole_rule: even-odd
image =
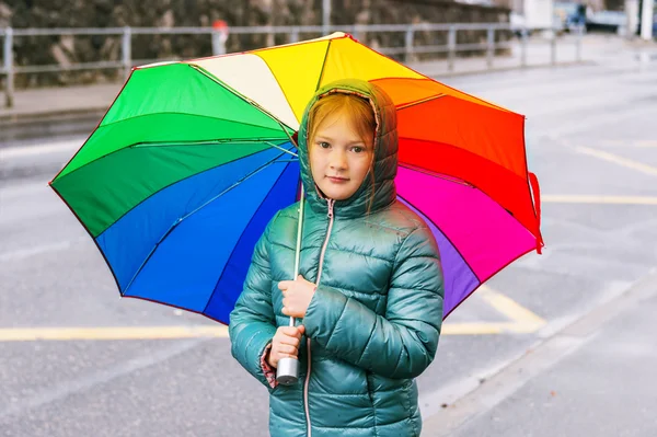
[(528, 254), (446, 321), (423, 436), (655, 436), (653, 0), (0, 0), (0, 435), (263, 436), (227, 331), (120, 299), (50, 181), (135, 66), (331, 32), (527, 116)]

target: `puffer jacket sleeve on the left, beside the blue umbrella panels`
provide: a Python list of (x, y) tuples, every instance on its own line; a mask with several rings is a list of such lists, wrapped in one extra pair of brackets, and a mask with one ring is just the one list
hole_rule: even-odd
[(261, 358), (276, 334), (268, 254), (272, 222), (255, 245), (244, 288), (230, 313), (228, 327), (232, 356), (268, 389), (272, 387)]

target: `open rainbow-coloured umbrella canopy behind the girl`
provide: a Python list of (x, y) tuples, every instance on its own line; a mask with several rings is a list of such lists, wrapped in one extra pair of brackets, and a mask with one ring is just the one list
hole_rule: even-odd
[(399, 198), (438, 241), (445, 315), (540, 251), (525, 117), (343, 33), (134, 69), (50, 185), (94, 239), (122, 296), (228, 323), (257, 239), (297, 200), (291, 137), (306, 105), (342, 78), (377, 83), (396, 106)]

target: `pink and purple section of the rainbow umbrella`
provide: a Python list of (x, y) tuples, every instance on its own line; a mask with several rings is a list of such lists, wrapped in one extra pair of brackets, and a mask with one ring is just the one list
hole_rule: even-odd
[(443, 318), (504, 267), (537, 249), (506, 209), (461, 181), (400, 166), (397, 196), (431, 229), (445, 275)]

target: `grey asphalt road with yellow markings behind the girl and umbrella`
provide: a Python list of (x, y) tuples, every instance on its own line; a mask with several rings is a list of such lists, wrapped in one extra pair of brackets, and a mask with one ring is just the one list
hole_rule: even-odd
[[(446, 322), (418, 379), (423, 436), (657, 435), (657, 58), (602, 51), (442, 80), (527, 115), (546, 248)], [(46, 186), (82, 141), (0, 148), (0, 435), (267, 435), (224, 330), (119, 299)]]

